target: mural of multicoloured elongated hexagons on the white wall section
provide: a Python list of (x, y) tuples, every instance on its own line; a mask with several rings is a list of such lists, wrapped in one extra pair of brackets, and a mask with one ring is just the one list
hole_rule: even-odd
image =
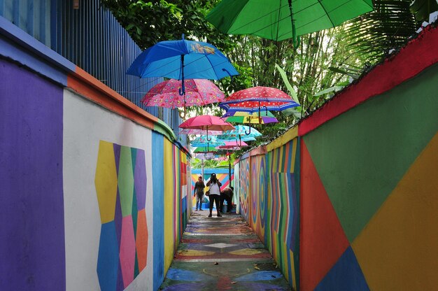
[(101, 234), (97, 276), (101, 290), (124, 290), (146, 267), (144, 150), (100, 141), (96, 186)]

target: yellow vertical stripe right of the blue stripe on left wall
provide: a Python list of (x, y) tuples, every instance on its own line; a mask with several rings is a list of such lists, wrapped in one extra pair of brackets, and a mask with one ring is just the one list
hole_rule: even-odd
[[(164, 139), (164, 274), (174, 259), (174, 157), (173, 144)], [(160, 193), (157, 193), (160, 194)]]

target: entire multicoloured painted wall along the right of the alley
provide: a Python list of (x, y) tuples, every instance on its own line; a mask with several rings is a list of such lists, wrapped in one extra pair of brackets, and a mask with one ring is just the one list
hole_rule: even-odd
[(236, 164), (241, 214), (293, 288), (436, 289), (437, 45), (428, 27)]

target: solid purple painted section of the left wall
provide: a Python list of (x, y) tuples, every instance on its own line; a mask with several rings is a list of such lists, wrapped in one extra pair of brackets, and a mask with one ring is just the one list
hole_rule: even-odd
[(65, 290), (62, 87), (0, 59), (0, 289)]

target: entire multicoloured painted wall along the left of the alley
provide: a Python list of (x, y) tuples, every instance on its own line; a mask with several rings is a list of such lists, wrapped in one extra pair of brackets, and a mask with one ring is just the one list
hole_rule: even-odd
[(0, 289), (158, 290), (190, 215), (187, 151), (0, 25)]

